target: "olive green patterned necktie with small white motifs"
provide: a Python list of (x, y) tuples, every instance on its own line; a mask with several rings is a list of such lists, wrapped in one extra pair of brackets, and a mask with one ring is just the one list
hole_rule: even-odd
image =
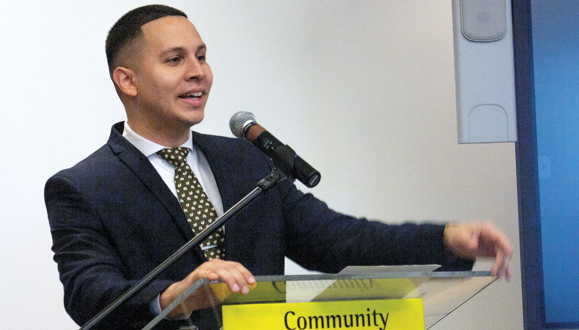
[[(187, 154), (190, 149), (179, 146), (178, 148), (166, 148), (157, 151), (157, 155), (167, 160), (175, 167), (175, 188), (177, 197), (185, 217), (194, 234), (209, 226), (217, 219), (217, 212), (211, 201), (205, 195), (199, 180), (187, 164)], [(225, 232), (223, 227), (212, 233), (203, 243), (201, 249), (207, 260), (213, 258), (225, 259)]]

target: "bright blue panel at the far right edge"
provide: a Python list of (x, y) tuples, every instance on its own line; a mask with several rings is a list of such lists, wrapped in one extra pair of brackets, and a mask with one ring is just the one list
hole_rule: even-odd
[(579, 1), (533, 0), (545, 321), (579, 322)]

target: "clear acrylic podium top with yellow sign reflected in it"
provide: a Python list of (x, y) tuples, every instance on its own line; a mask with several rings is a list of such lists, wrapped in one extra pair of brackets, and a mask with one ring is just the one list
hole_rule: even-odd
[[(412, 267), (415, 267), (414, 269)], [(415, 270), (420, 266), (407, 266)], [(256, 276), (255, 288), (247, 295), (231, 294), (224, 283), (199, 280), (143, 329), (155, 329), (189, 294), (207, 297), (215, 330), (233, 330), (221, 321), (221, 307), (233, 304), (299, 303), (323, 301), (384, 300), (422, 298), (424, 328), (429, 329), (482, 289), (496, 277), (490, 272), (373, 272), (290, 276)], [(195, 320), (190, 327), (197, 329)], [(207, 329), (200, 329), (207, 330)], [(213, 330), (213, 329), (210, 329)]]

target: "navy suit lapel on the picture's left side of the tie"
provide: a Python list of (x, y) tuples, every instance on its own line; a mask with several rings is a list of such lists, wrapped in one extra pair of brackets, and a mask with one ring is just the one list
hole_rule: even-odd
[[(108, 145), (111, 146), (113, 153), (119, 157), (121, 162), (126, 164), (131, 171), (137, 175), (142, 184), (155, 195), (167, 212), (169, 212), (175, 225), (177, 225), (184, 234), (185, 240), (192, 239), (193, 231), (189, 223), (187, 223), (179, 202), (145, 155), (122, 136), (123, 124), (123, 122), (120, 122), (113, 126)], [(200, 249), (199, 253), (202, 254)]]

